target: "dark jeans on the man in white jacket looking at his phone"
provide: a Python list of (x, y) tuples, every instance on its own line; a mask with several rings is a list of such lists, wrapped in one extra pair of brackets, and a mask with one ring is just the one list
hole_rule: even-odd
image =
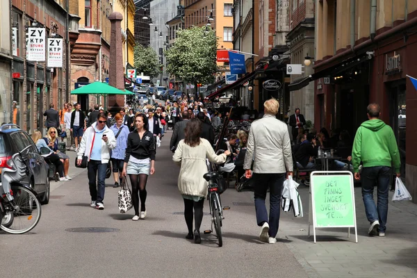
[[(107, 163), (88, 161), (88, 185), (90, 186), (91, 200), (96, 201), (96, 204), (103, 204), (106, 170)], [(98, 181), (96, 181), (96, 177)]]

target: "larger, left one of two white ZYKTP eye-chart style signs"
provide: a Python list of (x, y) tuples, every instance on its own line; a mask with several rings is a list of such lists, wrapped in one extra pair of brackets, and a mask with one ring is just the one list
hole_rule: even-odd
[(44, 62), (45, 61), (45, 28), (29, 27), (26, 37), (26, 51), (27, 60), (32, 62)]

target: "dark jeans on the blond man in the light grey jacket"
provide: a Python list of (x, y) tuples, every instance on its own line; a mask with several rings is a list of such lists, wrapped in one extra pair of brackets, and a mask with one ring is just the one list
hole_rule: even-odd
[[(285, 174), (256, 174), (254, 173), (255, 184), (255, 209), (256, 222), (262, 226), (263, 222), (270, 225), (269, 236), (275, 238), (278, 234), (279, 213), (281, 211), (281, 193), (285, 180)], [(266, 211), (266, 191), (270, 188), (270, 215)]]

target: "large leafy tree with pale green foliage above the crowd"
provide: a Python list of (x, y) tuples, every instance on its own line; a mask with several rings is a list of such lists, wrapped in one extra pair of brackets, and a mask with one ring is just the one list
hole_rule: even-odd
[(217, 47), (218, 38), (211, 28), (179, 30), (174, 45), (165, 51), (167, 72), (187, 83), (212, 83)]

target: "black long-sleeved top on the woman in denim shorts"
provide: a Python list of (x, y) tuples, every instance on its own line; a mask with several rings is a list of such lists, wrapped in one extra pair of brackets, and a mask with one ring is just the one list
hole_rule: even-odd
[(155, 160), (155, 142), (154, 134), (145, 131), (142, 139), (139, 138), (138, 129), (135, 129), (127, 136), (127, 147), (124, 154), (124, 162), (128, 163), (130, 156), (137, 159), (151, 158)]

